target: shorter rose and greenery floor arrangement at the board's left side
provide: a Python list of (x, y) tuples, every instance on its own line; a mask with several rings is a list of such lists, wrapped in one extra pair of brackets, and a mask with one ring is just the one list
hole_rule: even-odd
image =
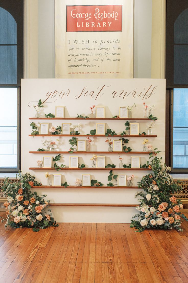
[(8, 178), (4, 180), (2, 190), (7, 201), (4, 203), (6, 207), (5, 228), (10, 226), (13, 228), (33, 228), (34, 232), (45, 229), (50, 226), (58, 226), (52, 217), (51, 210), (47, 209), (50, 200), (44, 200), (46, 195), (41, 197), (36, 192), (32, 193), (31, 188), (38, 184), (35, 177), (29, 173), (17, 175), (18, 183), (11, 183)]

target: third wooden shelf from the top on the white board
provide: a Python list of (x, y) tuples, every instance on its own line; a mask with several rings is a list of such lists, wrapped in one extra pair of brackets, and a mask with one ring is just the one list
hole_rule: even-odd
[[(63, 154), (72, 154), (69, 153), (68, 151), (29, 151), (29, 153), (63, 153)], [(151, 151), (129, 151), (129, 152), (125, 152), (125, 151), (73, 151), (73, 153), (76, 154), (94, 154), (94, 153), (102, 153), (102, 154), (149, 154), (151, 153)], [(152, 151), (152, 153), (154, 153), (154, 151)]]

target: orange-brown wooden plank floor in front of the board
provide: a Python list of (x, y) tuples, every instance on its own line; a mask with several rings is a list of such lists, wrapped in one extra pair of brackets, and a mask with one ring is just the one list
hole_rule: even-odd
[[(2, 216), (2, 213), (0, 213)], [(0, 224), (0, 282), (188, 282), (184, 232), (60, 223), (34, 233)]]

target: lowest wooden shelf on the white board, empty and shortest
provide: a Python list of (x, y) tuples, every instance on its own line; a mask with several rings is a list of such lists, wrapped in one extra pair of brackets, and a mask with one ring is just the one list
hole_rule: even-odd
[(115, 206), (115, 207), (136, 207), (139, 203), (49, 203), (50, 206)]

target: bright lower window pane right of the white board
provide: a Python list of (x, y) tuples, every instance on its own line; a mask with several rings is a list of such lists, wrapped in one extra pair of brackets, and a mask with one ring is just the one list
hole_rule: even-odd
[(174, 89), (173, 168), (188, 168), (188, 89)]

